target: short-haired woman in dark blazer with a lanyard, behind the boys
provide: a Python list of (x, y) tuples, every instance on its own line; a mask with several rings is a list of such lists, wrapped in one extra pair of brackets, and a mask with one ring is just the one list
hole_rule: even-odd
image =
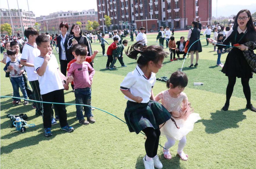
[(73, 37), (70, 33), (68, 33), (68, 23), (61, 22), (59, 24), (59, 29), (61, 30), (61, 34), (57, 37), (57, 45), (59, 47), (59, 62), (60, 62), (60, 70), (61, 73), (65, 76), (67, 75), (67, 66), (68, 62), (73, 59), (72, 54), (68, 51), (68, 39)]

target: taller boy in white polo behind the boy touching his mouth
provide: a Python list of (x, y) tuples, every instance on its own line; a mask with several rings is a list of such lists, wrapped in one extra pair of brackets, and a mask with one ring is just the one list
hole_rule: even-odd
[[(37, 49), (36, 37), (39, 35), (35, 28), (28, 28), (24, 31), (25, 36), (28, 38), (28, 42), (23, 47), (21, 55), (21, 65), (24, 65), (28, 75), (28, 81), (32, 88), (33, 99), (36, 101), (42, 101), (40, 95), (39, 83), (37, 78), (37, 73), (34, 68), (34, 59), (40, 54)], [(34, 102), (33, 108), (36, 108), (36, 115), (43, 115), (43, 104), (39, 102)]]

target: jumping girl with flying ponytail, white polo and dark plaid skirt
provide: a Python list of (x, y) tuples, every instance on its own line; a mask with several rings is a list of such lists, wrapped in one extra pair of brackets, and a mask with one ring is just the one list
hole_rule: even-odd
[[(141, 46), (138, 41), (126, 51), (129, 58), (137, 60), (137, 67), (129, 72), (120, 85), (121, 92), (128, 99), (124, 117), (130, 132), (143, 131), (146, 155), (143, 157), (145, 169), (163, 167), (157, 156), (160, 137), (159, 125), (171, 118), (170, 113), (160, 103), (154, 101), (152, 88), (156, 81), (155, 73), (162, 67), (168, 53), (161, 46)], [(144, 44), (144, 43), (143, 43)], [(137, 56), (139, 54), (139, 56)]]

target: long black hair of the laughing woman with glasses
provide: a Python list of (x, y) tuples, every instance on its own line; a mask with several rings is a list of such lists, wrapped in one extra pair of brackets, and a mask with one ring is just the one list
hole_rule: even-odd
[(240, 10), (236, 17), (235, 17), (235, 21), (234, 21), (234, 25), (233, 25), (233, 30), (237, 30), (238, 27), (238, 23), (237, 23), (237, 17), (239, 16), (240, 13), (242, 12), (246, 12), (248, 17), (250, 17), (250, 19), (248, 20), (246, 27), (247, 27), (247, 31), (251, 36), (254, 36), (254, 40), (256, 39), (256, 29), (255, 26), (253, 24), (253, 19), (252, 19), (252, 15), (251, 12), (248, 9), (242, 9)]

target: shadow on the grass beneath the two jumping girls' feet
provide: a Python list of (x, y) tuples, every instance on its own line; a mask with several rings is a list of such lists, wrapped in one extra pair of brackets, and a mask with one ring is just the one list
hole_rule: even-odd
[[(143, 157), (144, 156), (139, 156), (137, 158), (137, 161), (136, 161), (136, 165), (135, 165), (135, 168), (136, 169), (143, 169), (144, 168), (144, 163), (143, 163)], [(163, 164), (163, 168), (175, 168), (175, 169), (181, 169), (181, 168), (184, 168), (182, 166), (180, 166), (180, 158), (178, 155), (174, 156), (173, 155), (173, 158), (171, 160), (167, 160), (164, 158), (164, 155), (161, 154), (159, 155), (159, 160), (161, 161), (161, 163)]]

